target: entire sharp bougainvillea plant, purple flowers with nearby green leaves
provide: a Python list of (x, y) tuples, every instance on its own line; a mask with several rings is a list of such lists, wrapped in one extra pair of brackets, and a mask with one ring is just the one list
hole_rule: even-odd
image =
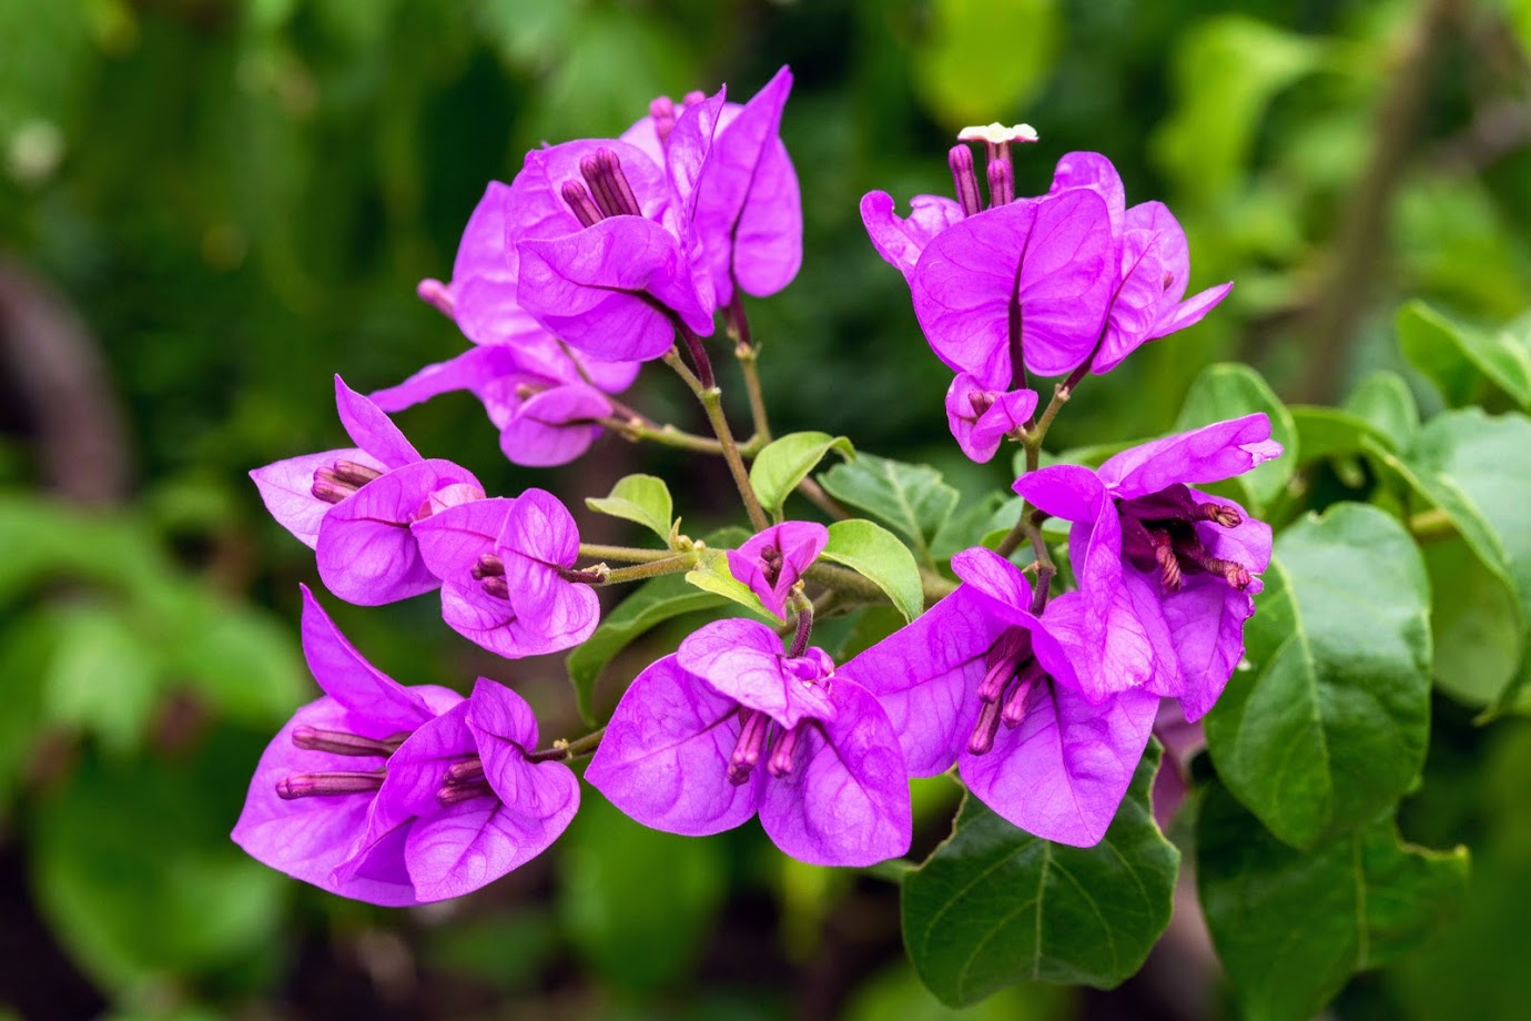
[[(945, 415), (977, 462), (1015, 444), (1014, 496), (958, 507), (922, 465), (827, 433), (773, 436), (746, 309), (801, 265), (779, 136), (790, 87), (782, 69), (744, 104), (661, 96), (620, 138), (528, 153), (488, 185), (452, 280), (419, 285), (467, 352), (371, 398), (337, 377), (357, 445), (251, 473), (315, 548), (331, 595), (371, 606), (439, 589), (446, 625), (501, 657), (574, 649), (588, 733), (542, 741), (525, 701), (485, 678), (467, 696), (398, 684), (305, 589), (325, 695), (273, 739), (234, 839), (344, 897), (458, 897), (559, 837), (580, 804), (571, 764), (588, 759), (585, 798), (646, 827), (706, 837), (758, 816), (784, 854), (900, 882), (909, 955), (960, 1004), (1021, 980), (1130, 977), (1170, 920), (1180, 851), (1160, 827), (1191, 785), (1205, 804), (1182, 843), (1203, 856), (1236, 984), (1258, 981), (1262, 926), (1300, 929), (1324, 897), (1361, 905), (1340, 946), (1315, 934), (1301, 961), (1275, 963), (1309, 974), (1297, 1013), (1272, 1010), (1300, 1016), (1405, 946), (1461, 880), (1459, 856), (1407, 848), (1392, 827), (1422, 756), (1418, 550), (1375, 507), (1292, 520), (1281, 465), (1297, 436), (1248, 370), (1199, 384), (1171, 435), (1047, 452), (1044, 467), (1078, 390), (1142, 344), (1176, 343), (1232, 285), (1187, 297), (1179, 223), (1160, 202), (1128, 207), (1101, 153), (1066, 153), (1044, 194), (1017, 194), (1020, 147), (1040, 145), (1027, 126), (965, 130), (948, 156), (955, 197), (914, 196), (903, 216), (882, 191), (860, 204), (929, 347), (911, 341), (908, 357), (952, 372), (945, 407), (911, 413)], [(743, 369), (744, 439), (724, 415), (718, 335)], [(619, 400), (658, 369), (692, 390), (710, 436)], [(603, 433), (720, 458), (747, 528), (687, 536), (664, 482), (629, 476), (588, 507), (661, 545), (582, 543), (553, 493), (488, 494), (387, 416), (455, 389), (484, 403), (517, 464), (565, 464)], [(830, 453), (839, 464), (819, 471)], [(1286, 524), (1274, 542), (1271, 519)], [(651, 625), (698, 608), (710, 623), (655, 655), (596, 726), (602, 666), (637, 637), (605, 634), (596, 589), (629, 583)], [(1379, 608), (1366, 634), (1307, 620), (1337, 600)], [(899, 626), (868, 623), (890, 605)], [(845, 615), (859, 615), (854, 644), (818, 644), (814, 621)], [(594, 667), (579, 658), (592, 635)], [(942, 773), (966, 790), (952, 833), (903, 860), (911, 778)], [(1228, 846), (1245, 848), (1237, 865)], [(1320, 868), (1335, 856), (1358, 865), (1335, 877)], [(1418, 879), (1410, 905), (1367, 908), (1367, 886), (1399, 869)], [(1262, 900), (1272, 874), (1295, 883), (1292, 905)]]

